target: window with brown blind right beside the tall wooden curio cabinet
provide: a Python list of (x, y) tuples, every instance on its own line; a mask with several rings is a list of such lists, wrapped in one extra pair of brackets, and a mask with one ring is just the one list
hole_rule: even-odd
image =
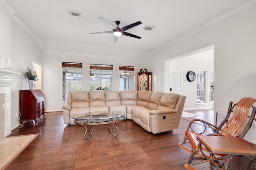
[(119, 91), (134, 89), (134, 67), (119, 66)]

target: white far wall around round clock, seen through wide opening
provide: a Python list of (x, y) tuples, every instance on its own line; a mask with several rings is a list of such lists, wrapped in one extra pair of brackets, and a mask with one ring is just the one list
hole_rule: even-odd
[[(205, 84), (205, 96), (206, 100), (204, 103), (197, 103), (198, 96), (198, 72), (205, 71), (207, 73), (214, 73), (214, 45), (209, 47), (205, 47), (203, 49), (199, 49), (193, 51), (191, 53), (186, 53), (184, 55), (180, 55), (178, 57), (174, 57), (165, 61), (164, 68), (164, 92), (165, 93), (178, 93), (186, 96), (186, 103), (184, 105), (184, 109), (197, 109), (197, 108), (213, 108), (214, 103), (211, 102), (213, 96), (213, 85), (208, 83), (210, 80), (214, 81), (214, 78), (210, 79), (210, 76), (206, 76)], [(176, 77), (172, 77), (172, 71), (182, 70), (183, 77), (182, 83), (179, 82), (179, 73), (176, 73)], [(196, 73), (196, 80), (193, 82), (189, 82), (186, 78), (186, 74), (189, 71), (194, 71)], [(181, 74), (181, 73), (180, 73)], [(174, 80), (173, 80), (174, 79)], [(176, 80), (175, 80), (176, 79)], [(173, 82), (174, 81), (174, 82)], [(176, 82), (175, 82), (176, 81)], [(212, 87), (211, 87), (212, 86)], [(172, 88), (172, 91), (170, 91)], [(177, 90), (177, 91), (176, 91)], [(180, 90), (182, 90), (180, 92)]]

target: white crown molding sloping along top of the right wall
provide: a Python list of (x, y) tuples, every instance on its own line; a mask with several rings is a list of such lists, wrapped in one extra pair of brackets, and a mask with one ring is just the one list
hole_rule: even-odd
[[(190, 32), (186, 33), (185, 35), (181, 36), (180, 38), (175, 39), (174, 41), (172, 41), (172, 42), (170, 42), (166, 45), (163, 45), (162, 47), (159, 47), (158, 49), (153, 50), (151, 53), (157, 52), (157, 51), (159, 51), (161, 49), (164, 49), (164, 48), (166, 48), (166, 47), (168, 47), (168, 46), (170, 46), (174, 43), (177, 43), (178, 41), (181, 41), (182, 39), (185, 39), (185, 38), (189, 37), (190, 35), (193, 35), (193, 34), (197, 33), (198, 31), (201, 31), (201, 30), (203, 30), (207, 27), (210, 27), (211, 25), (213, 25), (215, 23), (218, 23), (219, 21), (222, 21), (222, 20), (224, 20), (224, 19), (226, 19), (230, 16), (233, 16), (234, 14), (237, 14), (238, 12), (241, 12), (241, 11), (251, 7), (251, 6), (254, 6), (255, 4), (256, 4), (256, 0), (250, 0), (246, 3), (244, 3), (243, 5), (239, 6), (238, 8), (235, 8), (234, 10), (231, 10), (230, 12), (227, 12), (226, 14), (223, 14), (222, 16), (220, 16), (220, 17), (218, 17), (218, 18), (216, 18), (216, 19), (198, 27), (197, 29), (194, 29), (193, 31), (190, 31)], [(150, 54), (150, 56), (151, 56), (151, 54)], [(150, 56), (148, 56), (148, 58)]]

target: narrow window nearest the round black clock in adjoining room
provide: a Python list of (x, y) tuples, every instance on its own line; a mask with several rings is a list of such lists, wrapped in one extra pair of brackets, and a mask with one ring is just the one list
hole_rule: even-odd
[(205, 71), (197, 74), (197, 103), (205, 103)]

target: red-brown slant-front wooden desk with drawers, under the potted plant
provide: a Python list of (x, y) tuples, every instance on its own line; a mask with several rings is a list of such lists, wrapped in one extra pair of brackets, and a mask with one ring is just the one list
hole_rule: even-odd
[(45, 119), (45, 96), (41, 90), (20, 90), (20, 126), (23, 121)]

